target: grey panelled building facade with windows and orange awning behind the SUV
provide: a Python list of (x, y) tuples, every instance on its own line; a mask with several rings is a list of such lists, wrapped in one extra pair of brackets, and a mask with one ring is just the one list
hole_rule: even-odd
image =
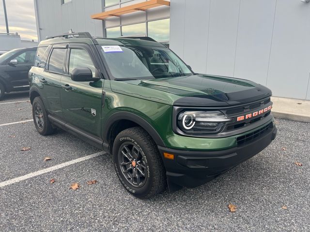
[(270, 87), (274, 96), (310, 100), (310, 3), (164, 2), (34, 0), (38, 38), (70, 29), (98, 37), (150, 36), (169, 45), (197, 73), (245, 78)]

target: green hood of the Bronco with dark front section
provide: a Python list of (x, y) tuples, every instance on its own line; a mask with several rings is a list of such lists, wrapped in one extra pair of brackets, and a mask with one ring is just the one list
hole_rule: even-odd
[[(113, 88), (111, 85), (112, 90), (135, 97), (138, 97), (136, 92), (138, 91), (140, 98), (163, 103), (169, 102), (176, 106), (230, 106), (254, 102), (271, 96), (270, 89), (252, 81), (215, 75), (199, 74), (133, 80), (124, 83), (132, 85), (133, 88), (123, 89), (119, 85)], [(132, 91), (128, 91), (129, 89)], [(153, 97), (154, 99), (152, 99)]]

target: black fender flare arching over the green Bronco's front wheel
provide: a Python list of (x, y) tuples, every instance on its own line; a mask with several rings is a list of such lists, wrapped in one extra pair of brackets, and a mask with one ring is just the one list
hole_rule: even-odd
[(157, 131), (142, 117), (137, 116), (133, 113), (126, 112), (126, 111), (121, 111), (121, 112), (116, 112), (112, 115), (109, 116), (108, 120), (104, 124), (104, 130), (103, 132), (103, 141), (109, 141), (109, 132), (112, 127), (112, 125), (119, 120), (130, 120), (135, 123), (137, 123), (140, 127), (142, 127), (146, 132), (150, 134), (150, 136), (153, 138), (155, 143), (160, 146), (165, 146), (164, 141), (162, 138), (159, 136)]

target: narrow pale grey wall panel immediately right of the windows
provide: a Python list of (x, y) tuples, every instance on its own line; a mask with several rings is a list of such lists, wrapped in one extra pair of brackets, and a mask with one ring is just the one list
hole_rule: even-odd
[(185, 1), (171, 0), (170, 48), (180, 57), (184, 55)]

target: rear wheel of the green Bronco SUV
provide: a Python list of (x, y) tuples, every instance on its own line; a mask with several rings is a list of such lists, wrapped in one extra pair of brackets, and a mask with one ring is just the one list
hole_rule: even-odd
[(55, 129), (47, 117), (47, 111), (40, 97), (34, 98), (32, 102), (32, 117), (34, 125), (41, 135), (53, 134)]

